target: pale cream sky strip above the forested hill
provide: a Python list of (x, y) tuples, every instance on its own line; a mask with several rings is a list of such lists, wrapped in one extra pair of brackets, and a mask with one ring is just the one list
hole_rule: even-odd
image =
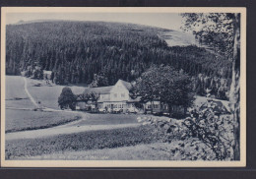
[(176, 13), (7, 13), (6, 24), (34, 20), (103, 21), (147, 25), (180, 30), (182, 18)]

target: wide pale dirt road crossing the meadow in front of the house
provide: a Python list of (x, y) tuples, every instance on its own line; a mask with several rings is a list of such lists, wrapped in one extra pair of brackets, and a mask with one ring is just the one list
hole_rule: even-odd
[(23, 131), (16, 133), (8, 133), (5, 135), (5, 140), (20, 140), (20, 139), (37, 139), (37, 138), (45, 138), (56, 135), (64, 135), (64, 134), (75, 134), (81, 133), (85, 131), (97, 131), (97, 130), (111, 130), (111, 129), (119, 129), (125, 127), (137, 127), (140, 124), (119, 124), (119, 125), (92, 125), (92, 126), (74, 126), (76, 121), (72, 124), (66, 124), (63, 126), (58, 126), (54, 128), (47, 129), (39, 129), (32, 131)]

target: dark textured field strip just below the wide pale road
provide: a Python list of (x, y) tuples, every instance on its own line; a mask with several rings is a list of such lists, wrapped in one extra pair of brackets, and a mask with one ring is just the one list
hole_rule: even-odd
[(153, 132), (154, 129), (150, 126), (139, 126), (85, 131), (49, 138), (10, 140), (6, 141), (6, 158), (15, 159), (21, 156), (30, 157), (62, 151), (116, 149), (139, 144), (151, 144), (160, 139), (160, 136), (153, 135)]

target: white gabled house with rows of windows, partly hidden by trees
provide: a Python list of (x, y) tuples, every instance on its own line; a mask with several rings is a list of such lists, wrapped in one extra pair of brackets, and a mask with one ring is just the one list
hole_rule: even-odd
[(87, 88), (84, 94), (95, 92), (99, 94), (97, 102), (93, 101), (77, 101), (76, 108), (78, 110), (90, 110), (97, 108), (99, 111), (105, 112), (142, 112), (142, 113), (168, 113), (168, 106), (160, 101), (148, 101), (143, 104), (142, 109), (135, 106), (139, 102), (139, 97), (131, 98), (130, 89), (132, 85), (128, 82), (118, 80), (114, 86)]

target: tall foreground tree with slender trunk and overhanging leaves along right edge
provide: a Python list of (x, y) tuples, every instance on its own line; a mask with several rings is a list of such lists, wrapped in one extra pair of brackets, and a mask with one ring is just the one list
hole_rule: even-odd
[(191, 13), (185, 18), (184, 30), (193, 30), (201, 41), (214, 47), (217, 54), (224, 54), (232, 62), (232, 81), (229, 101), (233, 115), (233, 159), (240, 159), (240, 14)]

